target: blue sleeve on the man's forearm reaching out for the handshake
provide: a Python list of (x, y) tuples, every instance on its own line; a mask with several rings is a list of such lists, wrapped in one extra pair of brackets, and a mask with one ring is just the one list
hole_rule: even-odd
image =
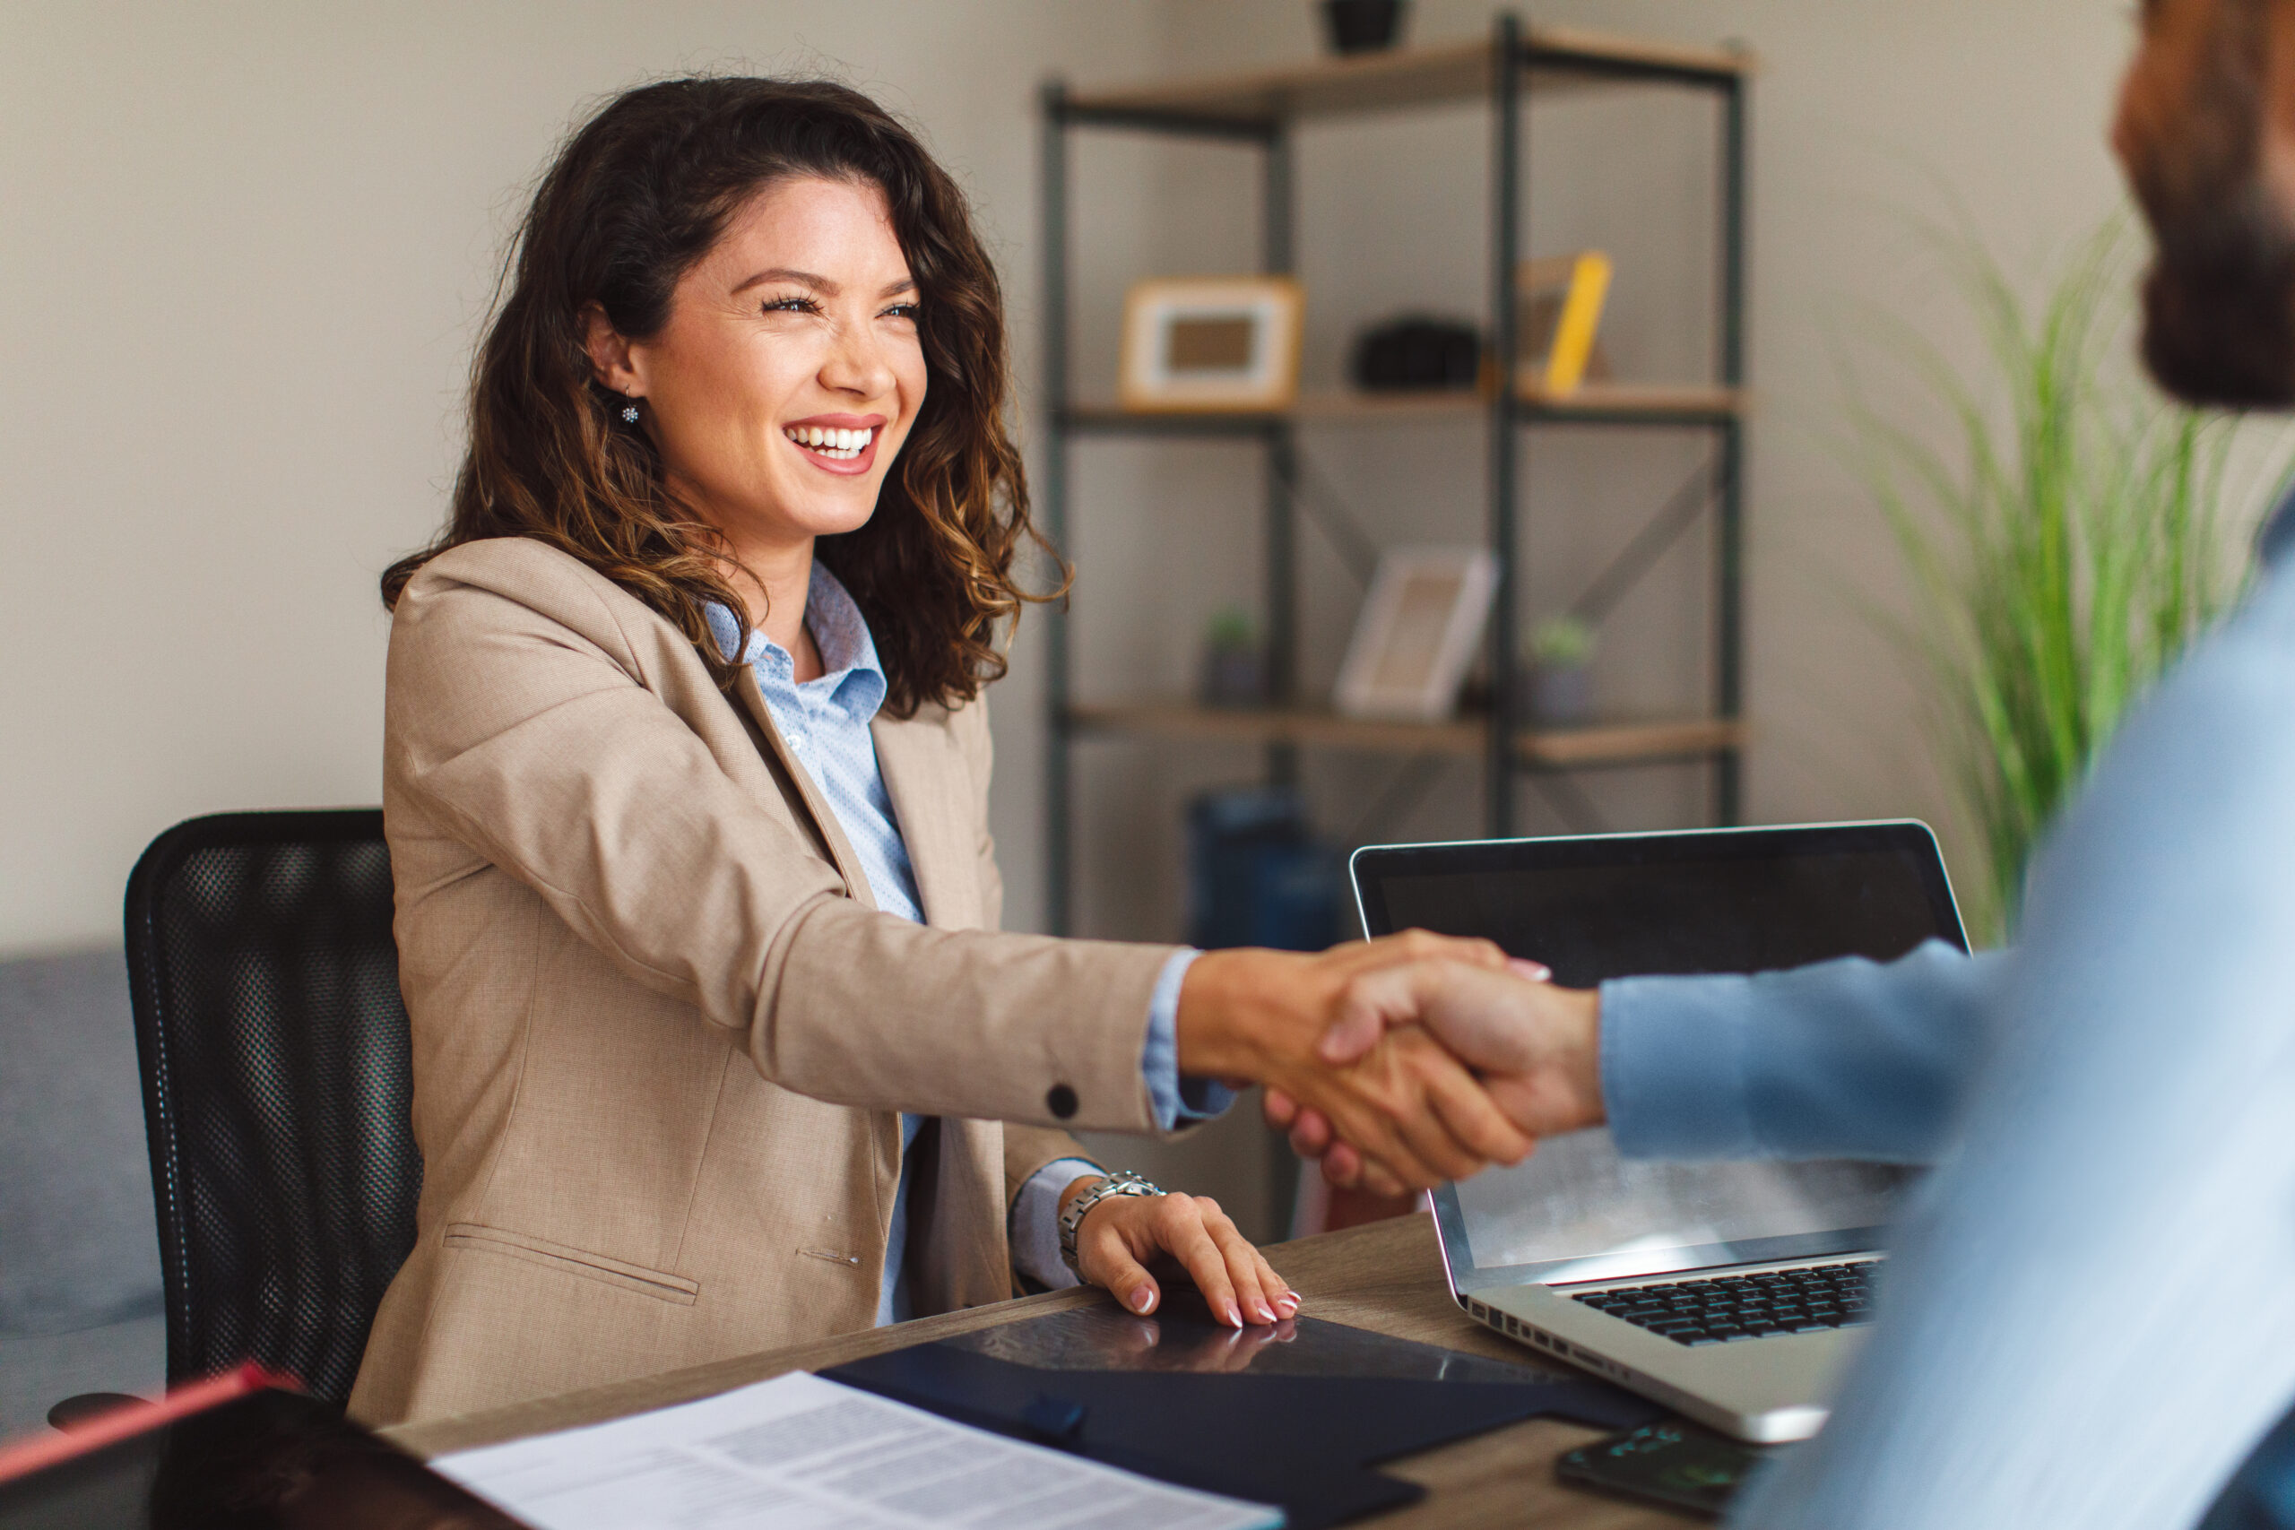
[(1928, 940), (1756, 977), (1602, 984), (1602, 1096), (1634, 1158), (1928, 1163), (1983, 1055), (1999, 954)]

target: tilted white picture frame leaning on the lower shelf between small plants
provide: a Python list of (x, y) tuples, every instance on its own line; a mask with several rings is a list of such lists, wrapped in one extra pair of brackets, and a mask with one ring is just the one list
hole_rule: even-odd
[(1487, 548), (1391, 548), (1338, 668), (1333, 702), (1349, 718), (1439, 723), (1457, 707), (1499, 587)]

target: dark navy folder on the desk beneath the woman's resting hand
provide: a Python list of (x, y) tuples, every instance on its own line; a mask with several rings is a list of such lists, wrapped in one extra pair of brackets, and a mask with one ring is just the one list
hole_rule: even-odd
[(1157, 1317), (1074, 1307), (822, 1372), (964, 1424), (1148, 1477), (1281, 1505), (1292, 1530), (1416, 1502), (1372, 1470), (1524, 1418), (1634, 1429), (1664, 1415), (1604, 1381), (1313, 1317), (1242, 1333), (1193, 1291)]

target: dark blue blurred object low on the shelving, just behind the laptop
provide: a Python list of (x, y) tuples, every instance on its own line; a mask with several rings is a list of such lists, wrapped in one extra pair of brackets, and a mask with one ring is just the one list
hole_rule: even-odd
[(1292, 787), (1207, 791), (1187, 805), (1189, 945), (1320, 952), (1338, 940), (1338, 856)]

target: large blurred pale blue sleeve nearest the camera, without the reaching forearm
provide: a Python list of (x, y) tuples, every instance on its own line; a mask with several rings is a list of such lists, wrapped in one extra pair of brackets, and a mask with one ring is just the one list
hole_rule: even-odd
[(2295, 1402), (2290, 867), (2281, 567), (2052, 830), (1880, 1317), (1825, 1431), (1733, 1523), (2201, 1521)]

